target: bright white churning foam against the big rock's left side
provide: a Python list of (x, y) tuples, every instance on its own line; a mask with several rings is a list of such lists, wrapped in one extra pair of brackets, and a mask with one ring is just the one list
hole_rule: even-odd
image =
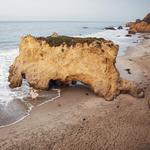
[(0, 104), (7, 105), (14, 98), (22, 98), (27, 94), (27, 85), (21, 88), (10, 89), (8, 82), (9, 66), (18, 55), (18, 49), (3, 50), (0, 52)]

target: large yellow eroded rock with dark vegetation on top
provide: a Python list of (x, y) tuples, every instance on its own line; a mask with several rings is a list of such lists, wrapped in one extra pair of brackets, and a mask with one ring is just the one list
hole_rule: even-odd
[(106, 100), (120, 92), (141, 97), (135, 83), (120, 78), (115, 67), (117, 52), (118, 45), (104, 39), (25, 36), (10, 66), (10, 87), (21, 86), (23, 78), (36, 89), (48, 89), (54, 81), (81, 81)]

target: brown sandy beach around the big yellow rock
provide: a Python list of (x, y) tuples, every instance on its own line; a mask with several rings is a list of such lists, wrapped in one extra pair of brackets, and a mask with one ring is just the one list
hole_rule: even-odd
[(0, 150), (149, 150), (150, 39), (128, 48), (117, 67), (145, 98), (122, 94), (107, 102), (83, 86), (64, 88), (60, 98), (1, 128)]

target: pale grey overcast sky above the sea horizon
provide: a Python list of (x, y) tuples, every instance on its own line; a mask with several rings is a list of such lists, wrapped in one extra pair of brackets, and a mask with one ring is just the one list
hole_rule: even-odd
[(150, 0), (0, 0), (0, 20), (130, 21)]

